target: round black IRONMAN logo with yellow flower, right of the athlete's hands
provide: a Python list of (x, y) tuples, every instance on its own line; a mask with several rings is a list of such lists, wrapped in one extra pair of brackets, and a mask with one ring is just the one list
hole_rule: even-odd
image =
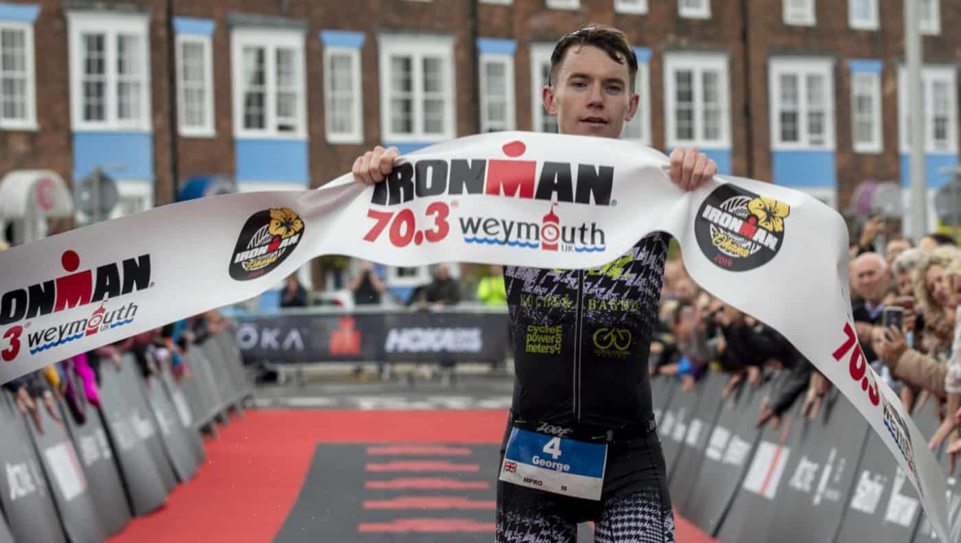
[(774, 198), (721, 185), (701, 205), (694, 233), (707, 259), (729, 271), (748, 271), (775, 258), (790, 213)]

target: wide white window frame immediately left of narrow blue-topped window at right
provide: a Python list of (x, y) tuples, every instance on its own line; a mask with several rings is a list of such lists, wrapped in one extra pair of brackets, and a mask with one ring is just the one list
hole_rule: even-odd
[[(799, 141), (781, 141), (780, 132), (780, 76), (798, 76), (798, 135)], [(811, 144), (808, 136), (807, 76), (825, 78), (825, 142)], [(835, 149), (834, 124), (834, 62), (817, 57), (771, 57), (768, 60), (768, 101), (770, 103), (771, 149), (774, 151), (833, 151)]]

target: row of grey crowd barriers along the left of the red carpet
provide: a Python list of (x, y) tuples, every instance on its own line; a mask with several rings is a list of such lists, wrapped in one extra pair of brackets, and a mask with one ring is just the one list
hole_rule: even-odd
[(58, 422), (38, 402), (42, 432), (0, 393), (0, 543), (102, 543), (162, 506), (206, 459), (200, 431), (216, 434), (216, 421), (226, 424), (229, 410), (240, 416), (253, 397), (234, 337), (225, 331), (191, 348), (194, 377), (179, 382), (165, 364), (144, 379), (130, 354), (119, 370), (105, 360), (100, 406), (79, 394), (74, 414), (58, 398)]

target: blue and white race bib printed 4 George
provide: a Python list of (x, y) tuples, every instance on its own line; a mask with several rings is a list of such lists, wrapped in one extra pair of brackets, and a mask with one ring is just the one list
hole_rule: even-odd
[(518, 428), (510, 432), (501, 481), (585, 500), (600, 500), (606, 443), (584, 443)]

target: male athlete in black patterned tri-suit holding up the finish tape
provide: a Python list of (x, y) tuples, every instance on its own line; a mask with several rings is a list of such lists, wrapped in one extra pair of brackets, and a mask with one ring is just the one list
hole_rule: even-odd
[[(637, 111), (636, 74), (623, 33), (581, 27), (554, 47), (544, 107), (561, 134), (619, 137)], [(354, 175), (382, 182), (398, 156), (377, 147), (357, 158)], [(683, 190), (715, 173), (695, 149), (671, 154), (671, 181)], [(599, 543), (674, 541), (648, 378), (669, 239), (647, 234), (596, 270), (505, 268), (517, 379), (501, 450), (497, 541), (573, 542), (585, 521), (596, 523)], [(554, 471), (522, 477), (532, 464)]]

